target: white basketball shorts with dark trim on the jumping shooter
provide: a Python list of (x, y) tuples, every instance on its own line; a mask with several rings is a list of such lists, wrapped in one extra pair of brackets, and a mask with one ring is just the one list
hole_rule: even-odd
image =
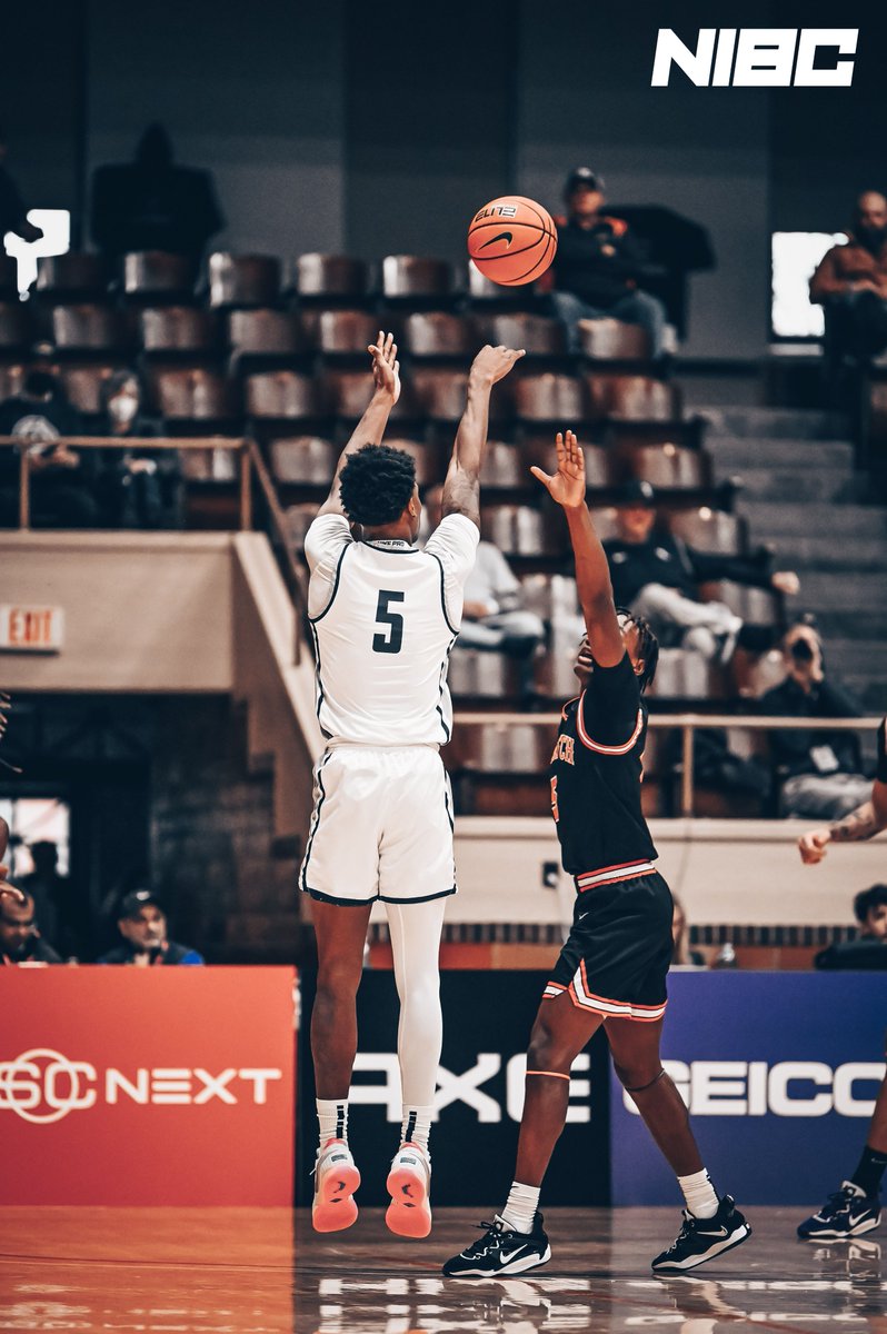
[(432, 746), (337, 743), (315, 767), (299, 884), (324, 903), (424, 903), (456, 892), (452, 792)]

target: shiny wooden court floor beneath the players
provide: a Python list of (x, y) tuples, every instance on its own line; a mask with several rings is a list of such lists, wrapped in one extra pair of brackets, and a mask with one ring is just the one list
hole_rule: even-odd
[(441, 1278), (478, 1221), (440, 1210), (428, 1241), (401, 1242), (377, 1210), (323, 1238), (303, 1210), (5, 1209), (0, 1331), (887, 1334), (879, 1233), (810, 1245), (795, 1239), (796, 1210), (758, 1209), (755, 1235), (720, 1263), (656, 1279), (650, 1259), (676, 1211), (552, 1210), (546, 1269)]

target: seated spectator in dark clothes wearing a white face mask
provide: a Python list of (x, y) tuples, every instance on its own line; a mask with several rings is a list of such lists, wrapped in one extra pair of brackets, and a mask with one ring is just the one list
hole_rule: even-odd
[[(159, 436), (143, 411), (143, 392), (133, 371), (116, 371), (101, 387), (104, 422), (99, 435), (117, 440)], [(176, 514), (179, 463), (171, 450), (120, 450), (101, 460), (96, 480), (103, 518), (113, 528), (168, 527)]]

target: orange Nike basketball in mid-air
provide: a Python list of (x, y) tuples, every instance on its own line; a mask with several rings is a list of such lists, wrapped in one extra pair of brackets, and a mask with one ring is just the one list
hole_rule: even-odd
[(471, 219), (468, 253), (484, 277), (503, 287), (540, 277), (556, 249), (551, 213), (523, 195), (492, 199)]

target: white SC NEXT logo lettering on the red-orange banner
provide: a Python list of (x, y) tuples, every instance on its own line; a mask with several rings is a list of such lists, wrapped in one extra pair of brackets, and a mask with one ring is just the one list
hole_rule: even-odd
[(281, 1078), (281, 1070), (233, 1067), (213, 1075), (197, 1067), (156, 1066), (124, 1073), (109, 1066), (100, 1074), (88, 1061), (71, 1061), (51, 1047), (32, 1047), (15, 1061), (0, 1061), (0, 1111), (15, 1111), (23, 1121), (48, 1126), (100, 1101), (109, 1106), (129, 1101), (201, 1107), (213, 1099), (228, 1106), (251, 1099), (264, 1106), (268, 1085)]

